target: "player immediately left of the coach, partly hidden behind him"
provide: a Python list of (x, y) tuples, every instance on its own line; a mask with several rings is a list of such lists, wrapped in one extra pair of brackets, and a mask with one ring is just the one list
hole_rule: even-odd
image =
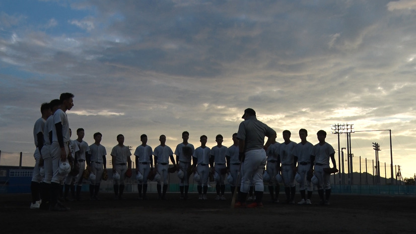
[[(231, 187), (231, 196), (233, 196), (235, 187), (237, 186), (237, 191), (240, 192), (240, 184), (241, 184), (241, 177), (238, 178), (238, 174), (240, 173), (240, 159), (238, 158), (238, 139), (237, 133), (233, 134), (233, 145), (228, 147), (227, 152), (225, 154), (227, 160), (230, 162), (230, 174), (233, 178), (233, 183), (230, 183)], [(238, 180), (238, 181), (237, 181)]]

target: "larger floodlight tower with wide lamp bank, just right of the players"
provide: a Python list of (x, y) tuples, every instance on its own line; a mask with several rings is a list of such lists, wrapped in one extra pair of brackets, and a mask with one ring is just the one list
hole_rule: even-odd
[[(333, 124), (331, 125), (331, 133), (338, 135), (338, 163), (341, 165), (341, 159), (340, 159), (340, 150), (339, 150), (339, 134), (346, 134), (346, 158), (348, 162), (348, 178), (349, 178), (349, 184), (354, 183), (354, 179), (352, 177), (353, 175), (353, 154), (351, 153), (351, 133), (355, 133), (354, 124), (352, 123), (346, 123), (346, 124)], [(343, 162), (342, 162), (343, 163)], [(345, 173), (345, 171), (342, 171), (342, 173)], [(339, 173), (338, 177), (339, 181), (341, 180), (341, 175)]]

